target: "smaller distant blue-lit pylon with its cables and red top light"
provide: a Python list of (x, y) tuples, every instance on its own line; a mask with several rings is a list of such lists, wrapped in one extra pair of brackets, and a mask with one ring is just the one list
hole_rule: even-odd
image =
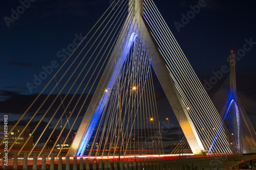
[(234, 152), (248, 154), (251, 152), (251, 147), (256, 146), (255, 131), (237, 94), (236, 60), (233, 52), (229, 61), (230, 75), (217, 92), (218, 97), (214, 101), (219, 108), (222, 122), (228, 128), (227, 136), (230, 136), (230, 142), (234, 145)]

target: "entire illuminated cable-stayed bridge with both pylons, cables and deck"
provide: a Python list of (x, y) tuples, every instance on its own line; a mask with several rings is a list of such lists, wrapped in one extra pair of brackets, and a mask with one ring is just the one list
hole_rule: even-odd
[[(172, 152), (165, 151), (162, 140), (155, 82), (161, 84), (184, 134)], [(242, 157), (255, 153), (256, 147), (255, 131), (236, 93), (233, 54), (230, 76), (211, 101), (152, 0), (114, 1), (8, 136), (24, 119), (28, 123), (7, 153), (36, 122), (14, 157), (37, 151), (34, 159), (40, 158), (41, 164), (54, 156), (72, 157), (72, 163), (86, 157), (87, 163), (99, 164), (105, 159), (140, 163), (147, 158), (161, 164), (200, 158), (210, 167), (207, 160), (225, 156), (228, 165), (236, 165), (252, 159)], [(37, 136), (34, 145), (25, 150), (32, 136)], [(68, 137), (73, 140), (66, 150)]]

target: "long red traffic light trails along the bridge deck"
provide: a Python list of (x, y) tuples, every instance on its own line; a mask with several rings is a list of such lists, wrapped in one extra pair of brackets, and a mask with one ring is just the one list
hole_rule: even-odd
[[(57, 166), (58, 164), (73, 164), (79, 165), (81, 163), (93, 164), (93, 163), (104, 163), (108, 161), (110, 163), (118, 162), (118, 156), (116, 157), (103, 157), (103, 158), (95, 158), (95, 157), (54, 157), (46, 158), (45, 155), (37, 157), (37, 153), (33, 153), (33, 157), (26, 157), (26, 153), (24, 156), (18, 157), (17, 152), (9, 153), (7, 161), (5, 158), (1, 158), (0, 162), (3, 164), (0, 165), (3, 169), (6, 168), (5, 163), (7, 162), (7, 166), (13, 167), (13, 169), (17, 169), (17, 167), (23, 166), (23, 169), (26, 169), (28, 166), (42, 166), (42, 169), (45, 169), (47, 166)], [(130, 155), (121, 157), (122, 162), (152, 162), (152, 163), (175, 163), (175, 162), (183, 162), (183, 161), (190, 161), (190, 160), (206, 160), (206, 159), (218, 159), (221, 157), (228, 157), (228, 156), (241, 156), (240, 154), (211, 154), (211, 155)], [(81, 162), (82, 159), (82, 162)], [(84, 161), (83, 161), (84, 160)]]

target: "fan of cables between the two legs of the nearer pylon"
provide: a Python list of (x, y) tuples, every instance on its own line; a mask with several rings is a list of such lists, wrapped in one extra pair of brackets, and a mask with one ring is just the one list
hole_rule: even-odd
[[(111, 93), (108, 105), (104, 108), (100, 125), (93, 134), (95, 137), (90, 146), (92, 149), (87, 154), (115, 156), (118, 155), (119, 147), (121, 155), (163, 153), (156, 122), (158, 113), (151, 62), (138, 36), (134, 36), (131, 50), (115, 74), (115, 83), (106, 91)], [(136, 86), (136, 90), (131, 89), (131, 86)]]

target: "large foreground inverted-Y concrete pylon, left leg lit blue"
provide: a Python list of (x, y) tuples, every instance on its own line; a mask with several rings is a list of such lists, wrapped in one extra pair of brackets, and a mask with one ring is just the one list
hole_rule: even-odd
[[(130, 13), (134, 13), (131, 25), (125, 25), (125, 23), (129, 23), (129, 19), (131, 19), (127, 18), (116, 42), (114, 51), (109, 59), (109, 64), (105, 68), (100, 82), (98, 83), (91, 103), (82, 119), (68, 155), (83, 155), (100, 114), (105, 106), (106, 100), (108, 99), (108, 94), (104, 93), (102, 89), (109, 89), (112, 87), (115, 75), (118, 74), (116, 71), (118, 70), (118, 67), (122, 66), (122, 63), (130, 50), (131, 43), (134, 39), (133, 36), (135, 35), (138, 35), (143, 41), (145, 41), (144, 48), (148, 50), (147, 55), (152, 57), (151, 64), (156, 72), (159, 82), (163, 87), (170, 105), (176, 108), (184, 108), (180, 111), (179, 115), (178, 112), (175, 112), (175, 114), (177, 119), (179, 116), (180, 126), (186, 136), (191, 150), (194, 154), (203, 154), (202, 150), (204, 150), (204, 148), (199, 139), (195, 126), (190, 119), (187, 110), (185, 109), (186, 106), (182, 102), (175, 83), (170, 76), (168, 69), (166, 68), (160, 52), (158, 51), (156, 42), (143, 18), (143, 1), (130, 1), (129, 5), (134, 5), (134, 10), (129, 11)], [(115, 61), (117, 61), (116, 64), (114, 64)]]

